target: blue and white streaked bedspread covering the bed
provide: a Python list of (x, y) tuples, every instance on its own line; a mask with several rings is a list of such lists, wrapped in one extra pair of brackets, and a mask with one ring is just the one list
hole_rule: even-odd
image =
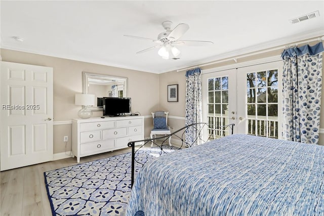
[(324, 146), (231, 135), (145, 163), (127, 215), (324, 215)]

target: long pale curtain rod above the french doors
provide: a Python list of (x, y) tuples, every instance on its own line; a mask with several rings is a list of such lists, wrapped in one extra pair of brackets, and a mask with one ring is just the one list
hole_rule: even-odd
[(292, 47), (292, 46), (298, 46), (299, 44), (302, 44), (304, 42), (312, 42), (312, 41), (324, 41), (324, 36), (321, 36), (321, 37), (317, 37), (317, 38), (314, 38), (314, 39), (305, 39), (305, 40), (301, 40), (301, 41), (298, 41), (297, 43), (295, 44), (289, 44), (289, 45), (284, 45), (284, 46), (278, 46), (278, 47), (274, 47), (274, 48), (269, 48), (269, 49), (265, 49), (265, 50), (262, 50), (262, 51), (256, 51), (256, 52), (252, 52), (252, 53), (249, 53), (249, 54), (244, 54), (244, 55), (239, 55), (239, 56), (235, 56), (235, 57), (230, 57), (230, 58), (225, 58), (225, 59), (222, 59), (222, 60), (217, 60), (217, 61), (213, 61), (213, 62), (209, 62), (209, 63), (205, 63), (205, 64), (200, 64), (200, 65), (195, 65), (195, 66), (190, 66), (190, 67), (186, 67), (186, 68), (182, 68), (182, 69), (178, 69), (177, 72), (180, 72), (180, 71), (184, 71), (184, 70), (188, 70), (188, 69), (191, 69), (191, 68), (197, 68), (197, 67), (204, 67), (204, 66), (208, 66), (208, 65), (212, 65), (212, 64), (217, 64), (217, 63), (221, 63), (221, 62), (226, 62), (226, 61), (229, 61), (229, 60), (234, 60), (235, 63), (237, 63), (237, 59), (238, 58), (244, 58), (244, 57), (249, 57), (249, 56), (253, 56), (253, 55), (258, 55), (258, 54), (262, 54), (262, 53), (265, 53), (265, 52), (271, 52), (271, 51), (275, 51), (275, 50), (280, 50), (280, 49), (286, 49), (288, 47)]

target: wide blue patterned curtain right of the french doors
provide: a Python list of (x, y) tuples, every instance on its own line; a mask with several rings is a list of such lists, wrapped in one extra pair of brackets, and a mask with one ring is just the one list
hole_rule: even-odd
[(286, 49), (282, 74), (282, 139), (318, 143), (323, 45)]

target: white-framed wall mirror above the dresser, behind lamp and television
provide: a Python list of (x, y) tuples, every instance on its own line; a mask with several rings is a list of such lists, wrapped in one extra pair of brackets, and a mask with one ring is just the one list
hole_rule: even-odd
[(126, 98), (127, 83), (126, 77), (110, 76), (105, 74), (82, 72), (83, 94), (95, 95), (95, 106), (88, 107), (93, 111), (102, 110), (103, 97)]

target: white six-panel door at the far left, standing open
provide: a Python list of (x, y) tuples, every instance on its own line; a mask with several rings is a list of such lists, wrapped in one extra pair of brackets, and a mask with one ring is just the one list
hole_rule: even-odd
[(1, 170), (53, 160), (53, 68), (0, 69)]

